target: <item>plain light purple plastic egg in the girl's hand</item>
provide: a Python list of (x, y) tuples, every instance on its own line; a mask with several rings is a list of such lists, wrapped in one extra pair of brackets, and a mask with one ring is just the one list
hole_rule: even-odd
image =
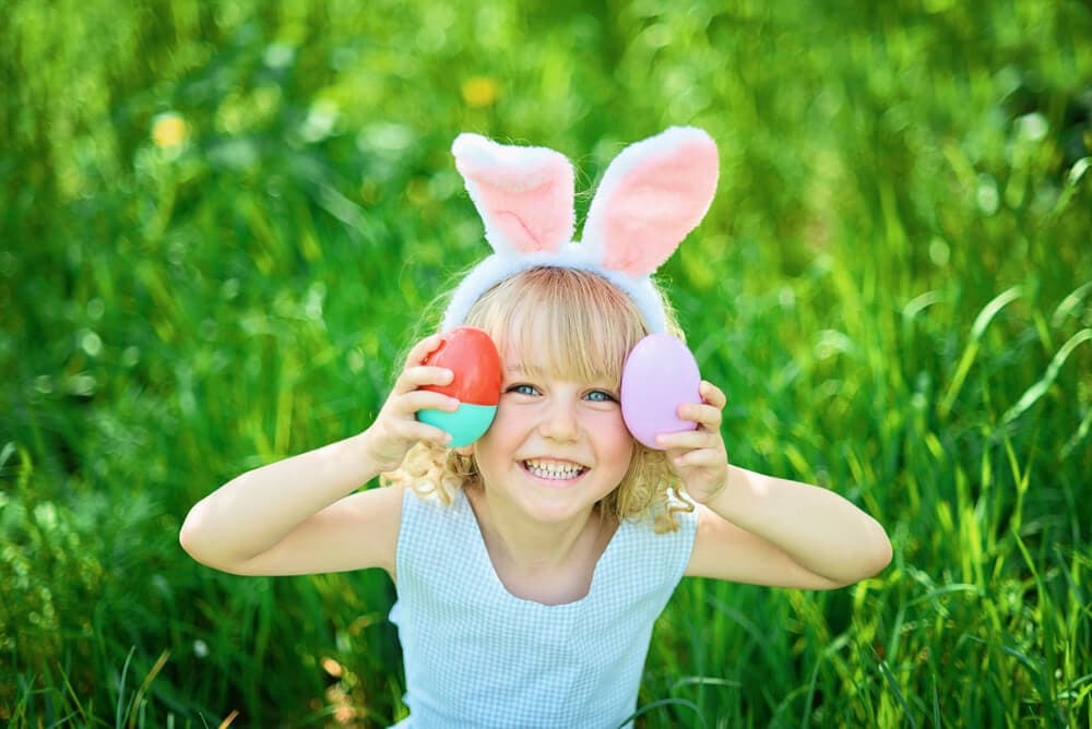
[(701, 374), (687, 346), (670, 334), (650, 334), (633, 347), (621, 372), (621, 417), (650, 449), (660, 433), (695, 430), (678, 418), (679, 405), (701, 403)]

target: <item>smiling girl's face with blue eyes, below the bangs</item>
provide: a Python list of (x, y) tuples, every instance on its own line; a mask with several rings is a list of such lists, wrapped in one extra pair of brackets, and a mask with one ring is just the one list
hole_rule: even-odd
[(558, 375), (532, 345), (501, 352), (497, 416), (474, 445), (489, 498), (538, 522), (586, 515), (625, 477), (633, 455), (618, 383)]

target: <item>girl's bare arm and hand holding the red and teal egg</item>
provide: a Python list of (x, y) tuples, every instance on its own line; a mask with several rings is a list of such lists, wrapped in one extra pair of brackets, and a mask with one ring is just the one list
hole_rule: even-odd
[(316, 451), (238, 476), (198, 502), (179, 535), (193, 559), (236, 574), (309, 574), (381, 566), (392, 576), (402, 514), (401, 489), (348, 495), (396, 468), (417, 441), (447, 442), (418, 422), (422, 408), (458, 402), (418, 390), (451, 371), (420, 367), (438, 337), (418, 343), (372, 426)]

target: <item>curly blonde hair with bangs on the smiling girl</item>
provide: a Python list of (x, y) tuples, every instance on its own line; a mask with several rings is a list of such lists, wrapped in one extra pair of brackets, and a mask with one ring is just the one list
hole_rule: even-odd
[[(668, 330), (681, 337), (674, 313), (664, 303)], [(488, 332), (500, 351), (529, 352), (534, 347), (547, 352), (547, 361), (535, 362), (543, 375), (587, 382), (620, 383), (626, 356), (649, 333), (633, 301), (606, 279), (587, 271), (551, 266), (530, 268), (500, 282), (474, 303), (464, 323)], [(544, 335), (545, 342), (531, 340)], [(381, 481), (412, 488), (420, 495), (435, 493), (443, 503), (451, 502), (455, 489), (482, 486), (473, 455), (430, 443), (411, 449), (402, 465), (383, 474)], [(693, 511), (693, 504), (669, 499), (677, 481), (663, 452), (633, 441), (629, 469), (600, 502), (601, 512), (617, 521), (651, 518), (656, 531), (673, 531), (678, 528), (675, 514)]]

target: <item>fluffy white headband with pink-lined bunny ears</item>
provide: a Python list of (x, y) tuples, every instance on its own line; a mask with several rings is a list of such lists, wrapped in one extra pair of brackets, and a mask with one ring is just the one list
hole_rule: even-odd
[(538, 266), (595, 273), (629, 295), (651, 333), (665, 330), (664, 307), (650, 277), (713, 200), (717, 155), (709, 134), (673, 127), (622, 150), (592, 199), (580, 243), (572, 240), (572, 165), (562, 154), (477, 134), (460, 134), (451, 153), (494, 253), (455, 288), (442, 332), (462, 324), (495, 285)]

